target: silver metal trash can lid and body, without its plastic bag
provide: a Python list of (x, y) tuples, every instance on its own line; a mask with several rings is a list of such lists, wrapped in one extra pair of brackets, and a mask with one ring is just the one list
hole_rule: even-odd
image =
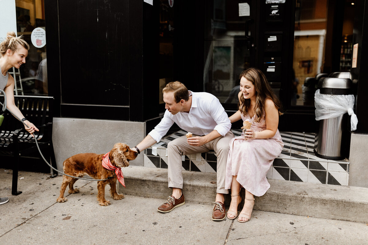
[[(349, 78), (321, 78), (318, 81), (320, 94), (352, 94), (352, 81)], [(323, 159), (342, 160), (348, 157), (350, 133), (348, 114), (319, 121), (315, 134), (314, 153)]]

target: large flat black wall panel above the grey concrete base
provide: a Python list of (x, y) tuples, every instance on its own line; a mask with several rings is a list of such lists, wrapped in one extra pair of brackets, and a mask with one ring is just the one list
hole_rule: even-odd
[(61, 103), (129, 105), (128, 1), (59, 1)]

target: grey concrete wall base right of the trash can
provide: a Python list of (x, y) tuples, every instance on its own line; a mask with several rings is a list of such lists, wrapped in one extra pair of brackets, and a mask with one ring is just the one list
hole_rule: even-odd
[(349, 185), (368, 188), (368, 135), (351, 134)]

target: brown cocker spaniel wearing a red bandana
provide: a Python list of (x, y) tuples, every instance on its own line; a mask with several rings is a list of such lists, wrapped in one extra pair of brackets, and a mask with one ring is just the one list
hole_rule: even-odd
[[(105, 199), (105, 185), (110, 185), (111, 196), (114, 200), (120, 200), (124, 198), (124, 195), (118, 195), (116, 192), (116, 180), (124, 185), (124, 179), (122, 179), (117, 173), (121, 170), (121, 167), (129, 166), (129, 160), (134, 160), (137, 157), (138, 153), (132, 151), (128, 145), (123, 143), (116, 143), (112, 150), (106, 154), (95, 154), (95, 153), (81, 153), (70, 158), (66, 159), (63, 163), (64, 173), (69, 174), (71, 176), (83, 177), (88, 174), (92, 178), (96, 180), (107, 179), (111, 177), (111, 179), (98, 181), (97, 182), (97, 201), (101, 206), (108, 206), (110, 201), (106, 201)], [(110, 161), (109, 161), (110, 160)], [(108, 169), (103, 167), (102, 163), (105, 163), (105, 166), (108, 165)], [(114, 169), (117, 167), (117, 170)], [(109, 170), (111, 169), (111, 170)], [(69, 185), (69, 193), (78, 193), (78, 189), (74, 189), (73, 185), (75, 181), (78, 179), (63, 175), (63, 183), (60, 187), (60, 196), (56, 199), (57, 202), (66, 202), (67, 198), (64, 197), (64, 192)], [(124, 185), (125, 186), (125, 185)]]

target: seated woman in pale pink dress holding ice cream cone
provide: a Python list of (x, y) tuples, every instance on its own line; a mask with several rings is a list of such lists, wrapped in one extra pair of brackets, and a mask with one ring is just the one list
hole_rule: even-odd
[(284, 144), (277, 129), (282, 115), (281, 104), (259, 69), (249, 68), (241, 73), (238, 97), (239, 110), (229, 119), (231, 123), (248, 119), (252, 125), (230, 141), (225, 188), (231, 187), (228, 219), (237, 217), (240, 188), (245, 188), (244, 206), (238, 221), (246, 222), (251, 218), (254, 195), (262, 196), (270, 187), (266, 174)]

